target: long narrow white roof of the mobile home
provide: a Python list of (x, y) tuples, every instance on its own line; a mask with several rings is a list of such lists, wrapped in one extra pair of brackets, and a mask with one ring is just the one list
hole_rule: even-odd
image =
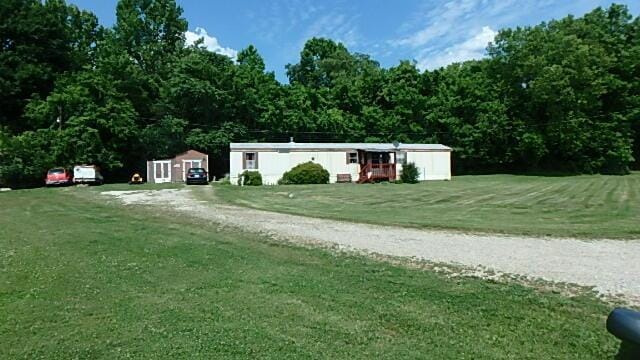
[(391, 143), (231, 143), (231, 151), (243, 150), (298, 150), (298, 151), (451, 151), (451, 148), (442, 144), (398, 144)]

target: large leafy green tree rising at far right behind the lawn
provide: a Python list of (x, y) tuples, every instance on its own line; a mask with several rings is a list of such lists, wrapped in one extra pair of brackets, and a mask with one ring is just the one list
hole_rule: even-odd
[(630, 17), (600, 8), (533, 28), (500, 31), (489, 48), (510, 117), (535, 129), (545, 164), (625, 173), (632, 161), (628, 94), (619, 60)]

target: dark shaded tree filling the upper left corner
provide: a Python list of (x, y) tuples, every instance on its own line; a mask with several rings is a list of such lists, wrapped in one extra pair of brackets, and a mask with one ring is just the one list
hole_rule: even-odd
[(93, 14), (63, 0), (0, 2), (0, 125), (13, 133), (41, 126), (22, 118), (27, 102), (88, 66), (100, 33)]

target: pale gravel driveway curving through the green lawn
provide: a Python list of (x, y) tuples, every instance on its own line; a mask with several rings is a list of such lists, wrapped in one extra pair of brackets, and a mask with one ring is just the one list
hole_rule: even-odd
[[(204, 191), (213, 191), (207, 188)], [(192, 216), (269, 233), (383, 255), (518, 274), (593, 287), (640, 303), (640, 241), (478, 235), (355, 224), (198, 201), (188, 189), (107, 191), (124, 204), (161, 205)]]

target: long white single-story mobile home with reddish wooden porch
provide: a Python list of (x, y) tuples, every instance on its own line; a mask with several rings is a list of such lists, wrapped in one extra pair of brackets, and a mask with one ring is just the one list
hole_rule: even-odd
[(330, 181), (395, 180), (407, 162), (420, 180), (451, 179), (451, 148), (441, 144), (231, 143), (231, 183), (245, 170), (257, 170), (264, 184), (277, 184), (292, 167), (312, 161), (329, 171)]

